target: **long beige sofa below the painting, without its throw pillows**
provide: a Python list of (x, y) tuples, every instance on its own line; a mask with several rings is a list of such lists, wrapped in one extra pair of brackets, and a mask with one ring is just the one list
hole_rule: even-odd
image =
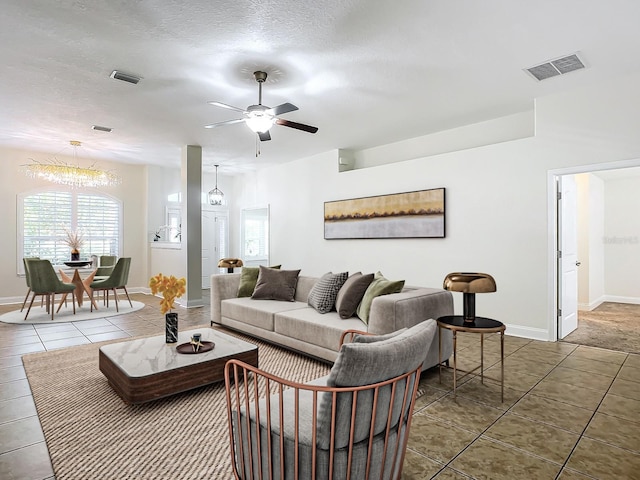
[[(295, 301), (237, 298), (240, 274), (211, 276), (211, 324), (224, 325), (254, 337), (334, 362), (340, 349), (340, 336), (349, 329), (373, 334), (391, 333), (419, 322), (453, 315), (450, 292), (405, 286), (402, 292), (376, 297), (371, 304), (368, 325), (358, 317), (343, 320), (337, 312), (318, 313), (307, 304), (316, 277), (300, 275)], [(442, 331), (442, 358), (452, 353), (452, 337)], [(423, 368), (438, 364), (438, 335), (425, 351)]]

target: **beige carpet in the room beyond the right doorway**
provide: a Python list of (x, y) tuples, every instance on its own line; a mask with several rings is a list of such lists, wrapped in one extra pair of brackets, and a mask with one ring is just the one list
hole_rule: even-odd
[(563, 341), (640, 353), (640, 305), (606, 302), (578, 312), (578, 328)]

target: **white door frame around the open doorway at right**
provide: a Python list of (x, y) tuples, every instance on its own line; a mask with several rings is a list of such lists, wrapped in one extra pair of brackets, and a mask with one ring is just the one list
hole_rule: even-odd
[(640, 166), (640, 158), (621, 160), (592, 165), (578, 165), (547, 171), (547, 337), (550, 341), (558, 340), (558, 261), (556, 252), (558, 245), (558, 177), (579, 173), (594, 173), (602, 170)]

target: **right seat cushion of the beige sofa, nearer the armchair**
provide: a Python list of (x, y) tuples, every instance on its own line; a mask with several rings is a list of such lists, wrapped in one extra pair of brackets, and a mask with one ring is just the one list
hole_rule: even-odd
[(308, 306), (278, 312), (274, 316), (276, 333), (334, 352), (340, 349), (342, 332), (347, 329), (362, 330), (364, 327), (359, 318), (342, 320), (336, 312), (320, 315)]

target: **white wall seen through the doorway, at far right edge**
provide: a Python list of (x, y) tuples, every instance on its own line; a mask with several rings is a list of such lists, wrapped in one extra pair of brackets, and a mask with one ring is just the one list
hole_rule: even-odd
[(607, 300), (640, 303), (640, 178), (605, 182)]

